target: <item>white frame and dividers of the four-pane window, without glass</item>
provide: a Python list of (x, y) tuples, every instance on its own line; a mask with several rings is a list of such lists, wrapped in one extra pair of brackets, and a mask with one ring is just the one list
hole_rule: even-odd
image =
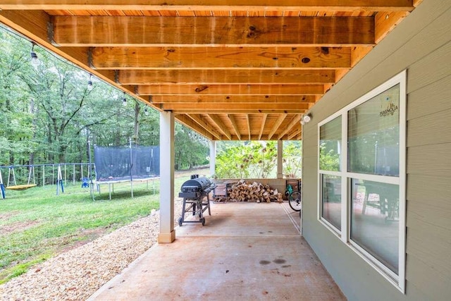
[[(399, 176), (381, 176), (381, 175), (373, 175), (373, 174), (365, 174), (365, 173), (352, 173), (348, 171), (348, 112), (351, 109), (363, 104), (364, 102), (369, 101), (373, 97), (378, 96), (379, 94), (389, 90), (395, 85), (400, 85), (400, 94), (399, 94)], [(332, 115), (325, 118), (323, 121), (318, 123), (318, 209), (317, 209), (317, 218), (318, 221), (323, 224), (326, 228), (328, 228), (334, 235), (338, 236), (340, 240), (350, 247), (351, 250), (356, 252), (359, 257), (362, 257), (365, 262), (373, 266), (376, 271), (378, 271), (385, 279), (387, 279), (390, 283), (395, 285), (395, 287), (400, 290), (402, 293), (405, 293), (405, 259), (406, 259), (406, 128), (407, 128), (407, 70), (403, 70), (401, 73), (398, 73), (393, 78), (383, 82), (383, 84), (378, 85), (378, 87), (374, 88), (370, 92), (364, 94), (359, 99), (354, 102), (348, 104), (344, 108), (339, 111), (333, 113)], [(341, 143), (341, 156), (340, 156), (340, 171), (323, 171), (320, 169), (320, 148), (321, 148), (321, 137), (320, 137), (320, 128), (322, 125), (325, 125), (329, 121), (333, 121), (333, 119), (341, 116), (342, 124), (342, 143)], [(340, 176), (341, 177), (341, 231), (333, 226), (330, 222), (322, 217), (322, 207), (323, 207), (323, 187), (322, 187), (322, 175), (330, 175), (330, 176)], [(398, 274), (391, 271), (388, 266), (385, 266), (378, 259), (373, 257), (373, 255), (369, 254), (366, 250), (360, 247), (357, 242), (354, 242), (350, 238), (351, 231), (351, 210), (352, 210), (352, 195), (351, 195), (351, 180), (359, 179), (359, 180), (370, 180), (376, 181), (378, 183), (388, 183), (399, 186), (399, 228), (398, 228)]]

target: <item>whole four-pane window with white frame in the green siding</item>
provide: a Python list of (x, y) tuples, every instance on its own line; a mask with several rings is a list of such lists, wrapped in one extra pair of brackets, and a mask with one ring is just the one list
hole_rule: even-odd
[(319, 221), (402, 292), (405, 82), (404, 71), (318, 129)]

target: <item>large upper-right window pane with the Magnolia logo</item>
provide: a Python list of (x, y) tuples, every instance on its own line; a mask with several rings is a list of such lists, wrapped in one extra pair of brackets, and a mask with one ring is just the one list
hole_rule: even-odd
[(396, 85), (348, 112), (350, 172), (399, 176), (399, 106)]

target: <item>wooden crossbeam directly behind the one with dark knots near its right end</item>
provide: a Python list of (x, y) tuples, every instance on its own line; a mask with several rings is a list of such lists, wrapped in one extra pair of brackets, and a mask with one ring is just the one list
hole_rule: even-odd
[(335, 70), (120, 70), (122, 85), (325, 84)]

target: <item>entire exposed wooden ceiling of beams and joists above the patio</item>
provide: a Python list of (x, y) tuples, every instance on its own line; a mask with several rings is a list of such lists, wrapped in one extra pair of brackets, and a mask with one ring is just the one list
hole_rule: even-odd
[(1, 0), (0, 22), (211, 140), (298, 140), (421, 0)]

